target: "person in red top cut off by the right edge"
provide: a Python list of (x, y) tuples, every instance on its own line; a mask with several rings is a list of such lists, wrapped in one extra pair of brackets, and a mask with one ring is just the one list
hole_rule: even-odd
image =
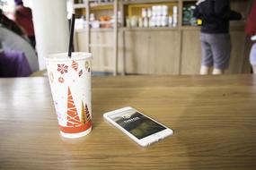
[(256, 74), (256, 0), (252, 2), (251, 13), (248, 15), (245, 32), (251, 37), (253, 45), (250, 53), (250, 63), (253, 73)]

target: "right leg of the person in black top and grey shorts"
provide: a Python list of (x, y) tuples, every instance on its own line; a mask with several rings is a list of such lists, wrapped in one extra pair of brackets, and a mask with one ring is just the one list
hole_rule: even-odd
[(225, 69), (228, 68), (230, 53), (231, 53), (231, 40), (228, 34), (214, 34), (210, 38), (214, 70), (213, 74), (224, 74)]

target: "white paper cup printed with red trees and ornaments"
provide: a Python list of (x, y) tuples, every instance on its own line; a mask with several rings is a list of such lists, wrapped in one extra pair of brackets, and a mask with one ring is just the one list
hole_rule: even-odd
[(79, 138), (92, 130), (91, 59), (89, 53), (45, 57), (58, 126), (66, 138)]

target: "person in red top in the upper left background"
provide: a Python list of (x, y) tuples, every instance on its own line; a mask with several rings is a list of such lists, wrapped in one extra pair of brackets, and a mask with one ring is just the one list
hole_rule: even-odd
[(29, 7), (23, 5), (22, 0), (14, 0), (16, 7), (14, 21), (22, 28), (26, 36), (30, 39), (32, 47), (36, 46), (32, 13)]

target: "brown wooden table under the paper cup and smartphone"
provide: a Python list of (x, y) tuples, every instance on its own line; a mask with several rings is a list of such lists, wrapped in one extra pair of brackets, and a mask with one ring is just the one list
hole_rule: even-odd
[[(46, 78), (0, 80), (0, 169), (256, 169), (256, 77), (95, 77), (93, 132), (60, 137)], [(134, 106), (174, 130), (141, 148), (104, 122)]]

